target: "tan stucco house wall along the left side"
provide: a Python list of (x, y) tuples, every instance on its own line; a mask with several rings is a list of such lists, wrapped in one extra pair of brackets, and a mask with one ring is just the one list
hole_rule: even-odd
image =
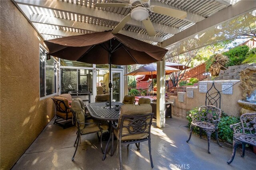
[(40, 101), (38, 33), (11, 1), (0, 1), (0, 164), (10, 169), (54, 116)]

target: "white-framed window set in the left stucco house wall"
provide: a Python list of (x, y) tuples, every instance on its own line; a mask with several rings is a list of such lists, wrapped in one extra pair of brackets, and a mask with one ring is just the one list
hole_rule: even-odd
[(46, 50), (40, 46), (40, 98), (56, 93), (57, 62), (46, 60)]

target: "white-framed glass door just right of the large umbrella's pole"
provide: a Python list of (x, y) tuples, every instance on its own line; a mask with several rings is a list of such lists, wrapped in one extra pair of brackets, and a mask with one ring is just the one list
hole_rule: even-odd
[(123, 74), (122, 71), (112, 71), (112, 101), (122, 102), (123, 101)]

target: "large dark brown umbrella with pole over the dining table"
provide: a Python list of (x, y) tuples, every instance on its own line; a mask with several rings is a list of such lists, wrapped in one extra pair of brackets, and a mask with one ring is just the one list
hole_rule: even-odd
[[(44, 41), (48, 55), (90, 64), (130, 65), (161, 61), (167, 49), (111, 31), (75, 35)], [(111, 87), (110, 108), (111, 108)]]

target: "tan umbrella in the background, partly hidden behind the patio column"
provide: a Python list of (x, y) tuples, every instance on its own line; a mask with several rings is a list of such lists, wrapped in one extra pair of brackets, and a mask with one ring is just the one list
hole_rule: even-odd
[[(147, 64), (144, 66), (141, 66), (127, 74), (124, 74), (125, 76), (136, 76), (136, 75), (151, 75), (151, 78), (153, 79), (153, 75), (156, 76), (156, 70), (157, 70), (157, 66), (156, 63), (152, 63), (152, 64)], [(165, 74), (171, 74), (172, 72), (176, 72), (176, 71), (180, 71), (177, 68), (172, 68), (172, 67), (165, 67)], [(153, 89), (153, 83), (152, 83), (152, 89)], [(153, 98), (154, 98), (154, 90), (153, 90)]]

